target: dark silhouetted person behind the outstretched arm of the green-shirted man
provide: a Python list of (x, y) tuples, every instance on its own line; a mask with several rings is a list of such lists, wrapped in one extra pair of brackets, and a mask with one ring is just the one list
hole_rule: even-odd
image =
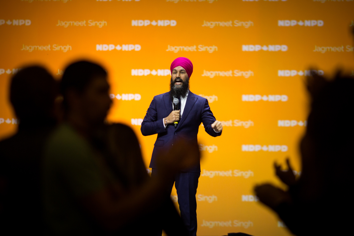
[[(146, 172), (140, 145), (129, 126), (120, 123), (105, 125), (97, 132), (93, 144), (103, 154), (109, 169), (125, 193), (136, 191), (147, 184), (150, 178)], [(161, 229), (164, 229), (169, 235), (187, 235), (187, 230), (168, 191), (161, 202), (163, 203), (160, 206), (153, 207), (130, 224), (120, 228), (119, 233), (145, 235), (146, 229), (149, 229), (150, 235), (157, 235), (161, 234)], [(135, 227), (137, 222), (140, 225), (138, 230)]]

